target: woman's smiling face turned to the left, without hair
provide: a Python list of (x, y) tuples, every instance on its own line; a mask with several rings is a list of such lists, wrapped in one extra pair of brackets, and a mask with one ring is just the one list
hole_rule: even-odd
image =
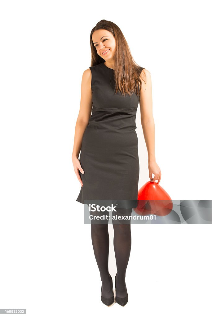
[(102, 29), (96, 30), (92, 35), (92, 41), (97, 54), (101, 56), (101, 58), (105, 61), (113, 60), (116, 50), (116, 40), (111, 32)]

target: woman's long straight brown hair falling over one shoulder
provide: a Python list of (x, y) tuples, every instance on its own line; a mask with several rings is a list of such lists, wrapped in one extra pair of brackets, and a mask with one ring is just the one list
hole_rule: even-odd
[(136, 93), (136, 95), (138, 95), (138, 85), (140, 84), (140, 87), (142, 85), (142, 81), (140, 79), (141, 68), (134, 61), (129, 49), (129, 45), (124, 38), (122, 31), (115, 23), (107, 20), (101, 20), (91, 30), (91, 66), (105, 62), (105, 60), (97, 54), (92, 40), (94, 31), (99, 29), (104, 29), (111, 32), (116, 40), (116, 51), (114, 54), (114, 79), (116, 93), (121, 92), (122, 95), (132, 95), (133, 93)]

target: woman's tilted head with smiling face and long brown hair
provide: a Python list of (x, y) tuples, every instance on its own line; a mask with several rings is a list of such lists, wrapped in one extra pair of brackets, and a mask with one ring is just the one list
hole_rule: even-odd
[[(114, 73), (116, 93), (131, 95), (135, 92), (138, 94), (138, 85), (142, 85), (141, 72), (139, 73), (141, 67), (134, 62), (127, 41), (119, 27), (109, 21), (106, 26), (104, 21), (100, 21), (96, 29), (91, 32), (91, 66), (99, 64), (103, 60), (105, 60), (105, 65), (113, 70), (116, 66)], [(144, 77), (143, 81), (145, 82)]]

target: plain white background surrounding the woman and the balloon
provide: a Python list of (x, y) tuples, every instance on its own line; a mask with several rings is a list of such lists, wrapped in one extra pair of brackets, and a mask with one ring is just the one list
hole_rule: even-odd
[[(209, 1), (0, 2), (0, 308), (211, 317), (209, 225), (132, 225), (129, 302), (103, 305), (71, 161), (90, 31), (106, 19), (152, 76), (160, 185), (173, 200), (211, 199), (210, 12)], [(140, 188), (149, 171), (139, 106), (136, 125)]]

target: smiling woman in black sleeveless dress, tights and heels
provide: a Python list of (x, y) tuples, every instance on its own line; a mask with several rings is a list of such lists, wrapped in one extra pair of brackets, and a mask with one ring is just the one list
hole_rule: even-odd
[[(138, 194), (135, 119), (139, 101), (149, 178), (158, 183), (161, 179), (154, 149), (151, 77), (134, 62), (122, 31), (113, 22), (97, 23), (90, 34), (90, 45), (91, 67), (83, 73), (72, 153), (74, 170), (81, 183), (76, 201), (85, 204), (85, 200), (119, 200), (116, 215), (131, 215), (134, 206), (130, 203), (137, 200)], [(113, 228), (116, 302), (124, 306), (128, 302), (125, 274), (131, 249), (130, 223), (113, 221)], [(115, 299), (108, 270), (108, 223), (91, 222), (91, 239), (102, 280), (101, 300), (109, 306)]]

